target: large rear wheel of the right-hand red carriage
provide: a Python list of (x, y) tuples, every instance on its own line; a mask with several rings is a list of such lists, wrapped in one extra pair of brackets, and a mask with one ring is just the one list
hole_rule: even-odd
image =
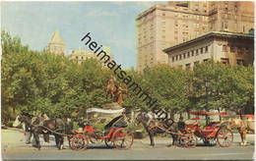
[(217, 134), (217, 141), (221, 147), (228, 147), (233, 141), (233, 134), (226, 128), (221, 128)]

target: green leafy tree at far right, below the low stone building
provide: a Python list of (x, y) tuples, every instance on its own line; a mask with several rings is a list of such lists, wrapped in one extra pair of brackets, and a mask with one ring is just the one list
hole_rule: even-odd
[(193, 100), (198, 109), (231, 109), (240, 112), (254, 108), (253, 67), (226, 66), (213, 61), (194, 69)]

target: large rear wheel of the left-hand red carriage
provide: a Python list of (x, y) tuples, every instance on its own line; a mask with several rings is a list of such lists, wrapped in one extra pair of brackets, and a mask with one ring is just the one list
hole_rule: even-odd
[(133, 133), (126, 128), (117, 129), (111, 138), (114, 147), (118, 149), (130, 148), (133, 144), (133, 139)]

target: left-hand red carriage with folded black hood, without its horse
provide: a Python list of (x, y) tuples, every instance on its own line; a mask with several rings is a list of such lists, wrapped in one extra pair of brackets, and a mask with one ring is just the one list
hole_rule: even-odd
[(133, 133), (125, 124), (116, 124), (123, 119), (123, 116), (118, 116), (111, 120), (105, 127), (103, 132), (97, 131), (89, 122), (84, 125), (83, 131), (75, 131), (74, 134), (69, 134), (69, 145), (71, 149), (85, 149), (90, 143), (95, 143), (97, 140), (104, 140), (107, 147), (115, 147), (117, 149), (128, 149), (133, 144)]

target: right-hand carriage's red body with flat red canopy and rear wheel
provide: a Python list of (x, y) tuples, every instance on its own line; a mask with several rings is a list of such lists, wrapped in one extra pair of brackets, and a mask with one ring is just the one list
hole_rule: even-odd
[[(201, 116), (222, 115), (222, 113), (210, 113), (205, 111), (190, 112), (190, 114)], [(198, 122), (200, 118), (193, 118), (195, 122), (185, 125), (184, 132), (187, 134), (195, 134), (201, 138), (205, 144), (218, 142), (221, 147), (228, 147), (233, 141), (231, 130), (227, 129), (221, 122), (212, 122), (204, 127)]]

